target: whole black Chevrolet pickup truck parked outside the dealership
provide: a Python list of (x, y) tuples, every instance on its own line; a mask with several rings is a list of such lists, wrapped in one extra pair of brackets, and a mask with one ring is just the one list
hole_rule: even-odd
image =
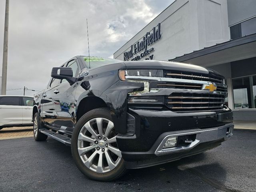
[(198, 154), (232, 136), (227, 86), (210, 69), (75, 56), (51, 76), (34, 97), (34, 138), (71, 145), (93, 180)]

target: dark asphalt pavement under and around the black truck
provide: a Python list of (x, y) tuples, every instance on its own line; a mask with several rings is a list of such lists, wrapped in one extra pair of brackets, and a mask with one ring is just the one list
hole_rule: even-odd
[(255, 148), (255, 130), (235, 130), (232, 138), (202, 154), (96, 182), (76, 168), (70, 147), (56, 140), (0, 140), (0, 191), (255, 192)]

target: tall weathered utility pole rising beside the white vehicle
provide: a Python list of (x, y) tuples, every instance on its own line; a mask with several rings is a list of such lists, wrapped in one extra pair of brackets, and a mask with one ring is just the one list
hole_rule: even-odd
[(8, 26), (9, 26), (9, 0), (5, 3), (5, 19), (4, 19), (4, 51), (3, 51), (3, 66), (2, 66), (2, 89), (1, 94), (6, 95), (6, 80), (7, 80), (7, 58), (8, 58)]

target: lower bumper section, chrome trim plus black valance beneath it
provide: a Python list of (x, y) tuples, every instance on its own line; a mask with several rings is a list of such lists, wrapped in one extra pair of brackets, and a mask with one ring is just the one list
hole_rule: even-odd
[[(230, 128), (228, 133), (227, 128)], [(125, 162), (128, 169), (144, 168), (172, 162), (219, 146), (232, 136), (233, 128), (234, 124), (231, 123), (207, 130), (192, 129), (182, 132), (167, 132), (158, 138), (152, 149), (148, 152), (122, 152), (122, 155), (124, 159), (128, 160)], [(162, 144), (165, 143), (166, 138), (188, 134), (196, 134), (196, 140), (190, 145), (162, 150)]]

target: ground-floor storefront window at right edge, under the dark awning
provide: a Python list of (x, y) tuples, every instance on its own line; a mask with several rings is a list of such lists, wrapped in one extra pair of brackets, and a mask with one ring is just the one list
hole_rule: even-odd
[(233, 79), (232, 85), (234, 109), (255, 108), (256, 76)]

